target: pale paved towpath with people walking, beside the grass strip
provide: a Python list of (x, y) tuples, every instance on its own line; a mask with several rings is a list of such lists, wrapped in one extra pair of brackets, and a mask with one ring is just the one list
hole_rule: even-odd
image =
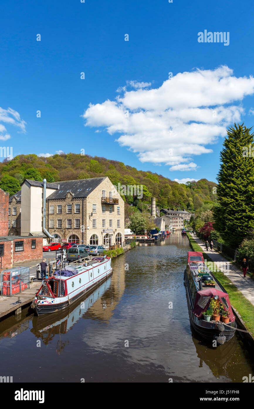
[[(194, 240), (196, 240), (197, 244), (206, 253), (207, 251), (205, 248), (205, 242), (201, 240), (199, 237), (194, 236), (194, 234), (191, 234), (191, 236), (192, 238), (194, 238)], [(221, 253), (216, 252), (215, 250), (211, 252), (210, 249), (208, 250), (207, 253), (214, 262), (223, 261), (225, 263), (229, 263), (228, 264), (229, 272), (228, 270), (227, 272), (224, 272), (225, 276), (227, 276), (232, 281), (232, 283), (238, 288), (238, 290), (241, 291), (244, 297), (246, 297), (254, 305), (254, 281), (250, 278), (250, 276), (246, 275), (246, 277), (244, 278), (243, 270), (240, 270), (238, 267), (236, 267), (234, 264), (228, 261), (225, 257), (222, 256)]]

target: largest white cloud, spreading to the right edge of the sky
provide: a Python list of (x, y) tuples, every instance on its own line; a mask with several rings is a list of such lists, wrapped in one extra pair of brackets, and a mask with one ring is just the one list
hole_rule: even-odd
[[(135, 89), (127, 91), (128, 85)], [(254, 93), (254, 78), (236, 78), (227, 66), (179, 73), (159, 88), (145, 85), (127, 81), (116, 101), (90, 103), (82, 117), (85, 126), (120, 134), (117, 142), (141, 162), (170, 165), (171, 171), (197, 168), (192, 156), (212, 152), (205, 146), (241, 120), (241, 101)]]

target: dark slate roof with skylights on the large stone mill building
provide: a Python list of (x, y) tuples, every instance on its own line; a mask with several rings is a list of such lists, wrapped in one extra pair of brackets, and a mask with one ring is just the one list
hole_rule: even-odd
[[(106, 177), (58, 182), (59, 188), (57, 186), (57, 190), (51, 193), (51, 195), (47, 197), (47, 200), (65, 199), (68, 190), (72, 194), (73, 198), (86, 198), (105, 179)], [(81, 191), (78, 191), (79, 189), (81, 189)]]

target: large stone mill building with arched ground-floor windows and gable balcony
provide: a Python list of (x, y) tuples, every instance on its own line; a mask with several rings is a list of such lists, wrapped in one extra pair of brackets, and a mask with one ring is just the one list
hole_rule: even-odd
[(59, 182), (46, 199), (46, 229), (60, 242), (121, 243), (124, 200), (107, 177)]

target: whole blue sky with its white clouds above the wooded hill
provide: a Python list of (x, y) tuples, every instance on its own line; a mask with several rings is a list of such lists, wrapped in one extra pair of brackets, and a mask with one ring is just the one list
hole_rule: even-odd
[[(2, 2), (0, 144), (216, 181), (228, 124), (254, 124), (253, 11), (251, 1)], [(205, 29), (230, 44), (198, 43)]]

